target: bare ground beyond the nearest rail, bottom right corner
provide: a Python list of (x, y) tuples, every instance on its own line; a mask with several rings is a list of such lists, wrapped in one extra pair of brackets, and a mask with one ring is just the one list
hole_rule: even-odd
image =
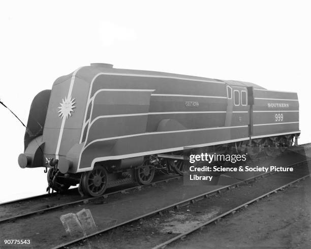
[(166, 248), (311, 248), (311, 179), (226, 216)]

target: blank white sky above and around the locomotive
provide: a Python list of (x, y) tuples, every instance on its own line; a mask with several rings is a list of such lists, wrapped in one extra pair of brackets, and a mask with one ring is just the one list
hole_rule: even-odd
[[(309, 1), (2, 1), (0, 98), (26, 123), (34, 96), (90, 63), (297, 91), (311, 141)], [(0, 106), (0, 202), (44, 193), (20, 169), (24, 129)]]

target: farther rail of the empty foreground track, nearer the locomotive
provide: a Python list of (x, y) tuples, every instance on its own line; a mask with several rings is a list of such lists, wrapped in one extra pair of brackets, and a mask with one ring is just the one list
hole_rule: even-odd
[[(299, 165), (302, 165), (304, 163), (307, 163), (311, 161), (311, 159), (307, 159), (307, 160), (303, 160), (303, 161), (300, 161), (300, 162), (296, 162), (296, 163), (293, 163), (293, 164), (290, 164), (290, 165), (287, 165), (287, 166), (284, 166), (284, 167), (292, 167), (292, 166), (299, 166)], [(168, 205), (166, 207), (163, 207), (163, 208), (160, 208), (160, 209), (157, 209), (155, 211), (151, 211), (149, 213), (146, 213), (146, 214), (143, 214), (143, 215), (140, 215), (138, 217), (135, 217), (133, 219), (130, 219), (128, 221), (125, 221), (125, 222), (122, 222), (120, 224), (117, 224), (117, 225), (114, 225), (114, 226), (111, 226), (111, 227), (108, 227), (108, 228), (105, 228), (105, 229), (102, 229), (100, 231), (97, 231), (95, 233), (91, 233), (91, 234), (88, 234), (88, 235), (84, 235), (80, 238), (77, 238), (77, 239), (74, 239), (74, 240), (71, 240), (69, 242), (65, 242), (65, 243), (62, 243), (62, 244), (59, 244), (59, 245), (56, 245), (54, 247), (52, 247), (51, 249), (58, 249), (58, 248), (63, 248), (63, 247), (67, 247), (73, 243), (76, 243), (76, 242), (79, 242), (81, 240), (84, 240), (84, 239), (87, 239), (89, 237), (92, 237), (92, 236), (95, 236), (95, 235), (98, 235), (98, 234), (101, 234), (101, 233), (104, 233), (104, 232), (108, 232), (112, 229), (115, 229), (117, 227), (121, 227), (123, 225), (126, 225), (126, 224), (129, 224), (129, 223), (132, 223), (134, 221), (138, 221), (140, 219), (143, 219), (145, 217), (148, 217), (148, 216), (151, 216), (151, 215), (154, 215), (154, 214), (162, 214), (163, 211), (165, 210), (168, 210), (168, 209), (172, 209), (172, 208), (176, 208), (176, 209), (179, 209), (179, 207), (181, 206), (185, 206), (185, 205), (189, 205), (191, 203), (194, 203), (195, 201), (200, 201), (204, 198), (208, 198), (210, 196), (213, 196), (215, 195), (216, 193), (221, 193), (222, 191), (224, 190), (230, 190), (232, 187), (234, 186), (239, 186), (240, 184), (242, 183), (246, 183), (248, 184), (248, 182), (252, 181), (252, 180), (256, 180), (258, 178), (264, 178), (265, 176), (268, 176), (268, 175), (272, 175), (272, 174), (277, 174), (279, 172), (273, 172), (273, 171), (269, 171), (267, 173), (262, 173), (262, 174), (259, 174), (259, 175), (256, 175), (256, 176), (253, 176), (253, 177), (250, 177), (250, 178), (247, 178), (247, 179), (244, 179), (244, 180), (240, 180), (238, 182), (235, 182), (231, 185), (226, 185), (226, 186), (222, 186), (218, 189), (215, 189), (215, 190), (212, 190), (212, 191), (209, 191), (209, 192), (206, 192), (204, 194), (200, 194), (198, 196), (195, 196), (195, 197), (191, 197), (189, 199), (186, 199), (186, 200), (183, 200), (183, 201), (180, 201), (180, 202), (177, 202), (177, 203), (174, 203), (174, 204), (171, 204), (171, 205)]]

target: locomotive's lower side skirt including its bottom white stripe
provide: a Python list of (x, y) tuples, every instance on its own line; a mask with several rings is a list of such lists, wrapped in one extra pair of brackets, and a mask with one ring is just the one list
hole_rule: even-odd
[[(90, 170), (96, 162), (100, 161), (182, 150), (186, 146), (203, 147), (248, 140), (247, 128), (247, 126), (206, 128), (98, 139), (92, 141), (83, 149), (83, 157), (81, 157), (78, 172)], [(228, 138), (230, 139), (228, 140)], [(206, 143), (206, 141), (209, 142)], [(135, 145), (135, 147), (132, 145)], [(100, 149), (102, 157), (94, 159), (94, 151), (99, 148), (102, 148)], [(125, 154), (118, 154), (118, 151)], [(90, 167), (87, 167), (89, 165)]]

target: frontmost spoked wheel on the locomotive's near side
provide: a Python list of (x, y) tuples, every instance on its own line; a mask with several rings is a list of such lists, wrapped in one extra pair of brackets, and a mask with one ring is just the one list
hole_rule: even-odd
[(105, 167), (96, 165), (92, 171), (83, 173), (82, 190), (86, 195), (98, 197), (106, 191), (107, 182), (108, 174)]

